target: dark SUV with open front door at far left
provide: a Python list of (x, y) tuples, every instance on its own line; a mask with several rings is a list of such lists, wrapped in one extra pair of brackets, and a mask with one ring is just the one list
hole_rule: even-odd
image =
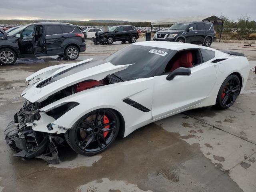
[(75, 60), (86, 50), (84, 34), (67, 23), (34, 23), (10, 33), (0, 29), (0, 64), (11, 65), (17, 58), (64, 56)]

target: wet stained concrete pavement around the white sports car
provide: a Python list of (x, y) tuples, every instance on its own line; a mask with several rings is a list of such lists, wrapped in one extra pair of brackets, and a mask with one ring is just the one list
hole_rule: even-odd
[[(143, 38), (140, 40), (144, 40)], [(78, 61), (102, 59), (127, 46), (93, 45)], [(214, 43), (237, 49), (240, 44)], [(256, 65), (256, 52), (242, 51)], [(0, 192), (255, 192), (256, 74), (228, 110), (190, 110), (144, 126), (118, 138), (102, 154), (86, 157), (67, 145), (59, 148), (60, 164), (25, 160), (4, 140), (3, 131), (22, 106), (25, 78), (46, 66), (70, 63), (43, 57), (44, 63), (0, 66)], [(252, 68), (251, 67), (251, 68)]]

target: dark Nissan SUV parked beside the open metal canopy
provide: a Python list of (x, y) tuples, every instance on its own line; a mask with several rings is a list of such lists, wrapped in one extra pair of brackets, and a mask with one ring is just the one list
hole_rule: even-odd
[(210, 47), (216, 36), (210, 22), (178, 22), (168, 30), (156, 32), (153, 40), (186, 42)]

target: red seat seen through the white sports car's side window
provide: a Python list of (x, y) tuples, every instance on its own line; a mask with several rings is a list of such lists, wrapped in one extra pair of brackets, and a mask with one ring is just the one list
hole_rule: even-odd
[(170, 72), (174, 71), (175, 69), (177, 69), (179, 67), (190, 68), (192, 66), (193, 66), (193, 55), (192, 55), (192, 53), (190, 51), (184, 51), (180, 55), (180, 58), (178, 58), (178, 60), (176, 60), (173, 63)]

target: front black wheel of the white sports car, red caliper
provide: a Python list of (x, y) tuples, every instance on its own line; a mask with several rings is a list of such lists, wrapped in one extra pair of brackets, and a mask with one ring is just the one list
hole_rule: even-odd
[[(98, 126), (95, 123), (97, 114), (98, 120), (100, 119), (97, 122)], [(104, 122), (106, 119), (110, 125), (106, 125)], [(65, 138), (78, 154), (93, 156), (103, 152), (114, 142), (119, 128), (120, 121), (113, 110), (99, 109), (80, 118), (75, 126), (66, 132)]]

